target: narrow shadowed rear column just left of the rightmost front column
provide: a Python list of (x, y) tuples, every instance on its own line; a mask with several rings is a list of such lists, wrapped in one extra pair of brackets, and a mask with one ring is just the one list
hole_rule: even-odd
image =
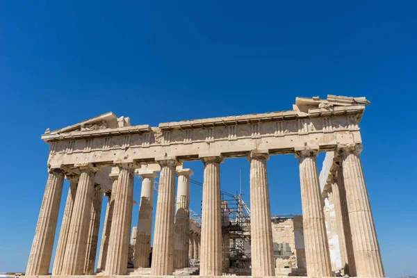
[(343, 179), (343, 170), (341, 167), (341, 162), (340, 162), (340, 167), (338, 167), (336, 171), (336, 180), (337, 180), (339, 195), (341, 198), (343, 231), (345, 233), (345, 245), (346, 245), (346, 253), (347, 253), (347, 263), (348, 263), (348, 265), (346, 265), (346, 268), (345, 268), (345, 274), (349, 275), (350, 277), (354, 277), (354, 276), (357, 276), (356, 266), (354, 263), (352, 235), (350, 234), (350, 221), (349, 221), (349, 213), (347, 211), (345, 181)]

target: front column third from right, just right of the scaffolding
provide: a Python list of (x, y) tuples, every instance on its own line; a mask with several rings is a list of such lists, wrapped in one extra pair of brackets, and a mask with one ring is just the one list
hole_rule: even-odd
[(266, 160), (268, 151), (250, 153), (250, 234), (252, 276), (275, 276)]

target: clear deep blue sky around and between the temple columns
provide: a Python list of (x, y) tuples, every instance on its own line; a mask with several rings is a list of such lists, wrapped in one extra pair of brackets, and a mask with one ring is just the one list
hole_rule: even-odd
[[(417, 274), (416, 10), (412, 1), (1, 1), (0, 272), (26, 269), (48, 127), (108, 111), (156, 126), (331, 94), (372, 102), (361, 158), (386, 275)], [(186, 166), (202, 181), (201, 162)], [(245, 158), (222, 164), (222, 189), (238, 190), (239, 167), (249, 199)], [(268, 170), (272, 213), (301, 213), (297, 159), (273, 156)], [(192, 194), (199, 211), (201, 188)], [(133, 224), (137, 216), (135, 206)]]

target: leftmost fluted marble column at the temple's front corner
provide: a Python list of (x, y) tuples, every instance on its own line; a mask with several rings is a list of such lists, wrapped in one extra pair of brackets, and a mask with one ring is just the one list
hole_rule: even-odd
[(40, 206), (38, 224), (36, 225), (26, 275), (48, 275), (52, 248), (54, 247), (54, 240), (51, 240), (51, 238), (55, 238), (63, 184), (63, 170), (51, 169), (49, 171), (42, 206)]

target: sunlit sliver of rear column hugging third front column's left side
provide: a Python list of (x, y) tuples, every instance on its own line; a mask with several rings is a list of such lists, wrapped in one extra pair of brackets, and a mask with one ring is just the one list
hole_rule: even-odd
[[(118, 176), (117, 176), (118, 177)], [(117, 183), (117, 178), (113, 178), (113, 188), (115, 188), (115, 183)], [(114, 189), (113, 189), (114, 190)], [(103, 234), (101, 236), (101, 245), (99, 253), (99, 262), (97, 263), (97, 272), (102, 272), (106, 268), (106, 260), (108, 253), (108, 240), (110, 240), (110, 231), (111, 231), (111, 222), (113, 219), (113, 209), (114, 209), (114, 198), (112, 193), (106, 193), (107, 196), (107, 208), (106, 216), (104, 218), (104, 228)]]

